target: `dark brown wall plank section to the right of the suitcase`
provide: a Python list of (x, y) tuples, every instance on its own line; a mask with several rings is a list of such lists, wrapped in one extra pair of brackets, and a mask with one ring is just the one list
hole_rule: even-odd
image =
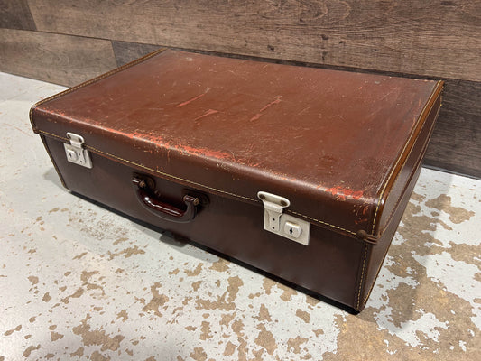
[(481, 179), (481, 82), (449, 79), (425, 165)]

